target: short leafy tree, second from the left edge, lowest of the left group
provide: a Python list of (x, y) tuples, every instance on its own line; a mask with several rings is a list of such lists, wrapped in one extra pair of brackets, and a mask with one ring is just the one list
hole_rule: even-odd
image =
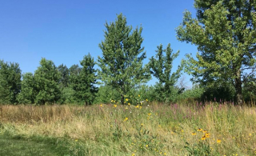
[(18, 94), (18, 102), (23, 104), (34, 103), (36, 97), (34, 75), (26, 73), (22, 75), (22, 90)]

